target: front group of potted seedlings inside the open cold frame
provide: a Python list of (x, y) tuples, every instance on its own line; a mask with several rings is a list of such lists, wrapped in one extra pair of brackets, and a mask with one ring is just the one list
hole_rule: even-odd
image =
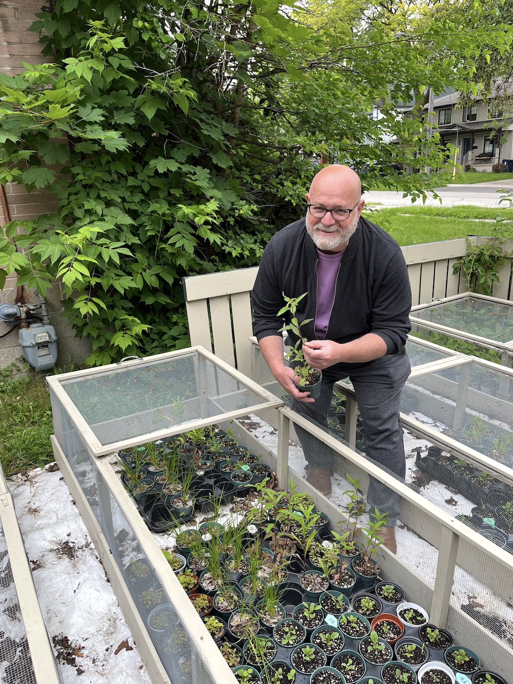
[[(374, 557), (386, 516), (376, 511), (362, 525), (358, 481), (347, 477), (352, 490), (338, 531), (293, 482), (290, 492), (280, 492), (263, 480), (237, 502), (245, 511), (239, 524), (209, 521), (176, 535), (181, 566), (174, 560), (174, 570), (237, 679), (304, 684), (316, 672), (315, 684), (337, 684), (335, 676), (353, 684), (366, 674), (375, 683), (384, 676), (385, 684), (415, 684), (415, 672), (434, 657), (473, 672), (475, 654), (453, 646), (397, 585), (378, 583)], [(132, 561), (129, 573), (140, 562)], [(144, 587), (148, 627), (180, 660), (176, 619), (166, 614), (163, 597), (151, 605)], [(452, 653), (459, 660), (450, 661)], [(382, 672), (392, 662), (397, 672)], [(437, 684), (427, 676), (422, 684)], [(495, 683), (503, 684), (497, 676)]]

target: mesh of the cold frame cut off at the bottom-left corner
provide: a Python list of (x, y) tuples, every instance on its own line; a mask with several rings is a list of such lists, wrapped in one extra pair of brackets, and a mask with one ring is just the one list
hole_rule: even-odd
[(25, 624), (0, 525), (0, 676), (5, 684), (36, 684)]

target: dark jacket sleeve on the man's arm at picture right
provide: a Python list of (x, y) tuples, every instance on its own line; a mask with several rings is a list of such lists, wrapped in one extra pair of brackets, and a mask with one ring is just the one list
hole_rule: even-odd
[(412, 327), (411, 306), (408, 269), (401, 250), (397, 249), (376, 284), (372, 302), (370, 332), (384, 340), (387, 354), (397, 354), (406, 344)]

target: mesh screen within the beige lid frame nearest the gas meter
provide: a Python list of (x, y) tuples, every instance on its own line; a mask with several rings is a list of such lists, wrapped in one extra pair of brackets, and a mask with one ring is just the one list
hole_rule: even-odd
[(60, 380), (103, 446), (263, 403), (199, 353)]

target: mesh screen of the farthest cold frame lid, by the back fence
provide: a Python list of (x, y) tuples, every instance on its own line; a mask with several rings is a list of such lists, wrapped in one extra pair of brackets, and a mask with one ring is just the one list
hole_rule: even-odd
[(513, 304), (464, 297), (413, 311), (412, 317), (495, 342), (513, 340)]

